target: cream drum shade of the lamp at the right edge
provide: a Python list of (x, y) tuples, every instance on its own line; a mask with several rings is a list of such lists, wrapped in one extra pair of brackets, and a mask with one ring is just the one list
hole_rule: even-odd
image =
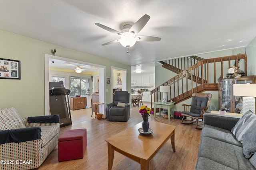
[(234, 96), (256, 97), (256, 84), (234, 84)]

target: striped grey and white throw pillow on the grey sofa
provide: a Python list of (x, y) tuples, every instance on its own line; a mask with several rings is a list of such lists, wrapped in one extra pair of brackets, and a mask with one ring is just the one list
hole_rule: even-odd
[(243, 143), (243, 135), (256, 121), (256, 115), (252, 113), (251, 110), (244, 113), (242, 118), (236, 123), (236, 125), (231, 129), (231, 132), (236, 136), (236, 139)]

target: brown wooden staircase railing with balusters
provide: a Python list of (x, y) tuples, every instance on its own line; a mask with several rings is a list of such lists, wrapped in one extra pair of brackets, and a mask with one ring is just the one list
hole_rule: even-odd
[[(196, 58), (198, 59), (198, 58)], [(194, 58), (194, 61), (196, 60)], [(176, 76), (170, 78), (160, 86), (170, 86), (170, 99), (173, 99), (175, 104), (182, 102), (183, 100), (186, 100), (191, 96), (194, 92), (203, 92), (206, 90), (218, 90), (218, 82), (216, 82), (216, 63), (220, 63), (220, 67), (218, 70), (220, 70), (220, 78), (224, 78), (223, 75), (223, 62), (228, 61), (228, 68), (231, 67), (231, 61), (236, 61), (236, 67), (238, 66), (238, 61), (240, 59), (244, 59), (244, 74), (247, 76), (247, 56), (246, 54), (240, 54), (240, 55), (232, 55), (232, 56), (226, 56), (226, 57), (217, 57), (212, 59), (200, 59), (197, 63), (194, 63), (190, 67), (186, 68), (185, 70), (182, 70), (179, 74)], [(183, 60), (181, 60), (183, 61)], [(167, 63), (167, 61), (166, 61)], [(170, 61), (168, 61), (170, 63)], [(186, 60), (184, 59), (184, 63), (186, 63)], [(209, 77), (209, 64), (213, 63), (214, 68), (210, 68), (210, 70), (213, 70), (214, 75)], [(173, 64), (173, 60), (172, 60)], [(174, 60), (174, 64), (176, 67), (176, 60)], [(188, 60), (187, 60), (188, 64)], [(192, 64), (192, 60), (191, 60)], [(178, 65), (180, 65), (180, 61), (178, 60)], [(182, 63), (181, 63), (182, 65)], [(185, 68), (185, 65), (184, 65)], [(225, 73), (226, 74), (226, 73)], [(183, 80), (183, 79), (186, 80)], [(189, 81), (190, 80), (190, 81)], [(201, 81), (198, 81), (201, 80)], [(191, 85), (190, 85), (191, 84)], [(158, 96), (161, 99), (161, 93), (158, 95), (158, 92), (160, 90), (160, 86), (156, 87), (155, 89), (151, 90), (151, 108), (153, 102), (158, 101)], [(185, 88), (184, 88), (185, 86)], [(181, 91), (181, 93), (180, 93)], [(169, 100), (170, 101), (170, 100)]]

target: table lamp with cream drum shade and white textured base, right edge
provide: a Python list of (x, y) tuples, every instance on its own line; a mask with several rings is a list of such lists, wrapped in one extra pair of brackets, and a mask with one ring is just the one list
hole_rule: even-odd
[(241, 114), (249, 109), (255, 113), (256, 84), (234, 84), (233, 95), (244, 96)]

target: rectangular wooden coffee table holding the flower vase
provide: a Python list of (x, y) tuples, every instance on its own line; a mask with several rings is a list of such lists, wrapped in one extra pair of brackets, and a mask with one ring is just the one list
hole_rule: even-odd
[(149, 121), (149, 128), (153, 130), (150, 135), (142, 135), (138, 129), (142, 127), (138, 123), (108, 139), (108, 170), (112, 169), (114, 151), (138, 162), (141, 170), (149, 169), (149, 162), (154, 158), (162, 146), (171, 140), (172, 150), (175, 152), (175, 126)]

